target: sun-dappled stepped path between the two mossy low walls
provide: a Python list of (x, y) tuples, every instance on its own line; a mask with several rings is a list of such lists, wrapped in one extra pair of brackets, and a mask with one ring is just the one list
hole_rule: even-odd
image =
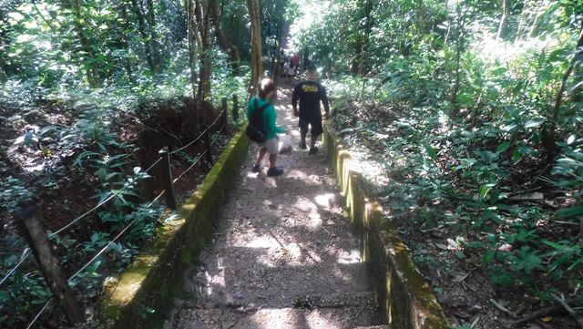
[(291, 90), (278, 94), (278, 123), (294, 152), (278, 178), (251, 173), (252, 145), (212, 245), (185, 273), (189, 299), (176, 301), (165, 328), (356, 328), (380, 324), (322, 151), (297, 149)]

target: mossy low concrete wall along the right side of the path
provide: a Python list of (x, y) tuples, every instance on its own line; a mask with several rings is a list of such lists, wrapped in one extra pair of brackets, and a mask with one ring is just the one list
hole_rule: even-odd
[(346, 207), (361, 236), (363, 260), (371, 274), (377, 303), (391, 329), (442, 329), (447, 320), (430, 285), (414, 265), (411, 253), (382, 206), (366, 188), (343, 140), (324, 129), (324, 149), (335, 170)]

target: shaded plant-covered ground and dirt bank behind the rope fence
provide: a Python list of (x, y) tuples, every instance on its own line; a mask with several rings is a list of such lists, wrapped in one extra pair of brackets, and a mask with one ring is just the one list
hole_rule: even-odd
[[(3, 184), (0, 194), (4, 193), (0, 195), (3, 201), (0, 205), (0, 279), (15, 266), (27, 247), (15, 221), (19, 207), (35, 200), (47, 231), (64, 227), (95, 207), (99, 193), (123, 184), (135, 167), (148, 168), (159, 158), (159, 149), (165, 146), (178, 149), (197, 136), (191, 115), (194, 108), (190, 107), (189, 99), (152, 99), (133, 110), (78, 107), (72, 102), (60, 101), (18, 107), (0, 104), (0, 182)], [(38, 145), (26, 145), (26, 129), (34, 129)], [(211, 149), (213, 159), (218, 159), (233, 131), (227, 128), (223, 134), (218, 134), (216, 130), (210, 130), (211, 138), (217, 138)], [(177, 178), (187, 170), (203, 149), (203, 143), (199, 142), (172, 156), (172, 177)], [(197, 165), (176, 181), (174, 190), (179, 202), (196, 190), (211, 166), (211, 163)], [(105, 170), (112, 180), (103, 180), (106, 175), (100, 170)], [(126, 195), (122, 207), (115, 205), (116, 200), (104, 204), (54, 239), (66, 275), (71, 275), (107, 244), (110, 234), (113, 236), (120, 225), (134, 216), (125, 202), (135, 205), (132, 207), (142, 207), (138, 215), (147, 216), (135, 229), (138, 231), (130, 231), (133, 237), (118, 242), (117, 248), (104, 254), (98, 273), (77, 282), (76, 293), (82, 296), (89, 314), (93, 313), (92, 304), (100, 290), (98, 282), (127, 266), (139, 246), (151, 236), (153, 227), (158, 225), (159, 207), (144, 212), (146, 208), (142, 204), (163, 190), (160, 167), (154, 167), (149, 175)], [(26, 325), (36, 314), (38, 305), (50, 296), (34, 257), (28, 257), (3, 283), (2, 289), (5, 291), (0, 296), (0, 320), (7, 328)], [(43, 318), (49, 327), (64, 324), (63, 314), (55, 303)]]

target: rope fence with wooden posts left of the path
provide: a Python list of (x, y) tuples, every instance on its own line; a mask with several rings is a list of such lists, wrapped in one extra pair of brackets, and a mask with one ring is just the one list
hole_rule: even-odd
[[(239, 108), (238, 108), (238, 102), (237, 102), (237, 97), (233, 96), (233, 109), (232, 109), (232, 117), (234, 122), (237, 122), (237, 120), (239, 119)], [(210, 140), (209, 138), (209, 134), (210, 134), (210, 129), (212, 129), (212, 127), (216, 126), (218, 124), (218, 122), (222, 120), (222, 125), (220, 126), (219, 129), (219, 133), (212, 139)], [(154, 169), (157, 165), (159, 165), (161, 163), (162, 165), (162, 180), (166, 180), (165, 185), (166, 185), (166, 189), (162, 190), (153, 200), (151, 200), (148, 205), (146, 206), (147, 209), (149, 209), (150, 207), (152, 207), (162, 196), (166, 195), (167, 196), (167, 207), (171, 208), (172, 210), (176, 209), (176, 201), (175, 201), (175, 195), (174, 195), (174, 190), (173, 190), (173, 184), (175, 184), (178, 180), (180, 180), (182, 177), (184, 177), (190, 170), (192, 170), (197, 163), (199, 163), (200, 159), (203, 158), (203, 156), (207, 155), (209, 159), (212, 159), (212, 155), (211, 153), (211, 147), (220, 139), (220, 132), (223, 132), (224, 129), (229, 125), (229, 121), (228, 121), (228, 109), (227, 109), (227, 98), (223, 98), (222, 99), (222, 106), (221, 106), (221, 111), (220, 113), (217, 115), (217, 118), (215, 118), (213, 120), (213, 122), (206, 127), (206, 129), (204, 129), (203, 131), (201, 131), (199, 133), (199, 136), (197, 136), (195, 139), (192, 139), (188, 144), (180, 147), (179, 149), (174, 149), (172, 151), (168, 151), (168, 150), (161, 150), (160, 154), (161, 156), (159, 156), (158, 159), (156, 159), (153, 163), (151, 163), (148, 166), (148, 169), (141, 171), (142, 173), (149, 173), (150, 170)], [(190, 146), (192, 146), (193, 144), (195, 144), (197, 141), (199, 141), (200, 139), (206, 139), (205, 140), (205, 149), (198, 155), (198, 157), (196, 159), (194, 159), (190, 164), (189, 167), (186, 170), (183, 170), (179, 176), (177, 176), (174, 180), (172, 180), (172, 174), (171, 171), (169, 170), (169, 155), (172, 154), (177, 154), (180, 151), (183, 151), (184, 149), (189, 148)], [(167, 172), (165, 172), (167, 171)], [(96, 206), (94, 206), (93, 208), (91, 208), (88, 211), (85, 211), (84, 213), (82, 213), (81, 215), (77, 216), (77, 218), (75, 218), (72, 221), (69, 221), (66, 225), (64, 225), (63, 227), (61, 227), (60, 229), (51, 232), (51, 233), (44, 233), (44, 235), (46, 235), (44, 238), (44, 240), (46, 240), (46, 244), (48, 246), (50, 246), (49, 240), (51, 238), (56, 237), (58, 234), (62, 233), (63, 231), (66, 231), (68, 229), (70, 229), (73, 225), (77, 224), (77, 222), (81, 221), (84, 218), (87, 218), (87, 216), (91, 213), (93, 213), (94, 211), (97, 211), (99, 208), (101, 208), (102, 206), (104, 206), (105, 204), (107, 204), (107, 202), (109, 202), (110, 200), (115, 199), (116, 197), (118, 197), (123, 191), (128, 190), (129, 187), (133, 186), (135, 184), (135, 181), (131, 181), (131, 182), (126, 182), (119, 190), (115, 190), (115, 191), (110, 191), (109, 195), (107, 196), (107, 198), (105, 198), (104, 200), (101, 200), (97, 203)], [(173, 202), (168, 202), (168, 200), (172, 200)], [(32, 218), (36, 217), (35, 215), (31, 216)], [(118, 231), (118, 233), (116, 234), (116, 236), (109, 240), (107, 242), (107, 244), (101, 248), (88, 262), (86, 262), (84, 265), (82, 265), (77, 272), (75, 272), (73, 275), (71, 275), (69, 278), (65, 279), (66, 282), (66, 289), (70, 290), (70, 283), (73, 279), (75, 279), (77, 277), (77, 275), (79, 275), (81, 272), (85, 271), (87, 269), (88, 266), (90, 266), (93, 262), (96, 262), (97, 259), (103, 255), (104, 252), (107, 252), (107, 250), (111, 247), (112, 244), (114, 244), (115, 242), (117, 242), (131, 227), (132, 225), (134, 225), (136, 222), (138, 221), (138, 218), (135, 218), (134, 220), (130, 221), (128, 223), (127, 226), (125, 226), (121, 231)], [(42, 227), (42, 226), (41, 226)], [(33, 234), (28, 234), (29, 236), (33, 236)], [(32, 238), (31, 238), (32, 239)], [(32, 239), (34, 240), (34, 239)], [(43, 240), (43, 239), (41, 239)], [(36, 254), (38, 254), (38, 251), (36, 250), (37, 244), (36, 243), (31, 243), (32, 241), (29, 241), (29, 246), (25, 249), (25, 251), (23, 252), (22, 257), (20, 258), (20, 260), (15, 264), (15, 266), (10, 269), (10, 271), (8, 271), (5, 276), (2, 278), (2, 280), (0, 280), (0, 286), (3, 283), (6, 283), (8, 281), (8, 279), (16, 272), (16, 270), (22, 266), (25, 262), (26, 259), (28, 259), (28, 257), (30, 256), (31, 253), (35, 252)], [(49, 249), (51, 249), (51, 247), (49, 247)], [(43, 274), (45, 274), (45, 278), (46, 278), (46, 282), (47, 285), (51, 285), (53, 284), (51, 282), (51, 280), (49, 279), (49, 277), (51, 275), (47, 275), (46, 273), (46, 267), (43, 264), (43, 260), (40, 257), (37, 257), (38, 260), (38, 265), (41, 269), (41, 272), (43, 272)], [(41, 315), (46, 312), (46, 309), (48, 308), (49, 304), (54, 302), (54, 300), (57, 300), (61, 306), (64, 308), (64, 311), (66, 313), (66, 317), (67, 320), (71, 323), (74, 324), (76, 321), (74, 321), (75, 317), (71, 317), (69, 316), (69, 310), (67, 310), (67, 304), (63, 302), (63, 296), (62, 293), (60, 293), (59, 295), (54, 293), (54, 296), (51, 297), (44, 305), (43, 307), (39, 310), (39, 312), (36, 314), (36, 316), (32, 319), (32, 321), (27, 324), (26, 329), (32, 328), (34, 324), (36, 324), (36, 321), (41, 317)], [(78, 303), (77, 298), (75, 298), (75, 302)], [(78, 319), (78, 318), (77, 318)]]

